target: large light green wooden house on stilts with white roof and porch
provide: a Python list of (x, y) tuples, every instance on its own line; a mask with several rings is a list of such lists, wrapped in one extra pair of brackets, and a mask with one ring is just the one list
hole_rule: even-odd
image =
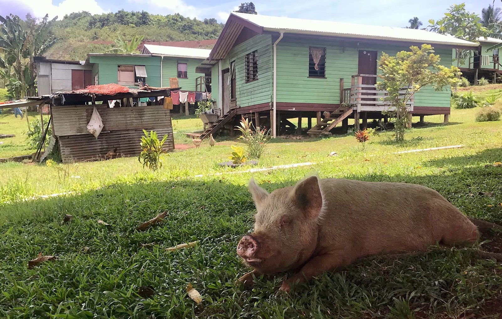
[[(412, 45), (431, 44), (441, 63), (452, 65), (452, 48), (478, 44), (425, 30), (232, 13), (204, 64), (211, 65), (212, 96), (222, 117), (202, 135), (231, 127), (242, 115), (273, 135), (308, 118), (309, 133), (330, 134), (348, 119), (382, 119), (378, 60)], [(426, 87), (409, 105), (413, 116), (450, 114), (450, 89)], [(317, 125), (312, 126), (312, 119)]]

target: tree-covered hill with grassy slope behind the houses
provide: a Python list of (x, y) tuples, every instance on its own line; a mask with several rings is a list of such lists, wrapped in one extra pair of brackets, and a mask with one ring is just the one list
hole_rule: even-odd
[(60, 38), (45, 56), (60, 60), (85, 60), (87, 53), (103, 53), (112, 48), (118, 36), (132, 39), (144, 35), (145, 41), (186, 41), (216, 39), (222, 24), (216, 19), (185, 18), (182, 15), (152, 15), (128, 12), (91, 15), (79, 12), (56, 21), (54, 34)]

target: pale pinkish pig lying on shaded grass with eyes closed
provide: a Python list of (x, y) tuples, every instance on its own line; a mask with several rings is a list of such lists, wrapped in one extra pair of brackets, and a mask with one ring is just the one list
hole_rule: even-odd
[(473, 244), (477, 227), (437, 191), (415, 184), (310, 176), (272, 193), (252, 178), (255, 230), (237, 254), (253, 268), (239, 278), (298, 270), (280, 290), (377, 254)]

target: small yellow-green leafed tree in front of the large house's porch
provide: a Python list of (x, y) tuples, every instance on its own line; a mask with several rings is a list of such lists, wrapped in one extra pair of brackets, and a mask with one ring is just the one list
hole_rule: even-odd
[(396, 142), (404, 140), (408, 121), (406, 105), (415, 92), (426, 85), (432, 85), (436, 91), (440, 91), (444, 86), (456, 86), (460, 81), (457, 78), (460, 70), (455, 66), (448, 68), (440, 65), (439, 55), (434, 54), (431, 45), (422, 44), (420, 49), (411, 46), (410, 49), (398, 52), (396, 56), (383, 53), (379, 63), (382, 81), (376, 87), (387, 90), (385, 100), (390, 102), (390, 108), (386, 113), (396, 118)]

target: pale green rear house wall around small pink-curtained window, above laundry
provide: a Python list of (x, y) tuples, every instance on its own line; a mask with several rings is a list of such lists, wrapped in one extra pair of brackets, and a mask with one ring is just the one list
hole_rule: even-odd
[(195, 91), (195, 79), (204, 76), (204, 73), (195, 73), (195, 68), (199, 66), (203, 59), (164, 57), (162, 60), (162, 85), (169, 86), (169, 78), (178, 76), (178, 61), (187, 63), (188, 67), (188, 78), (178, 78), (181, 89)]

